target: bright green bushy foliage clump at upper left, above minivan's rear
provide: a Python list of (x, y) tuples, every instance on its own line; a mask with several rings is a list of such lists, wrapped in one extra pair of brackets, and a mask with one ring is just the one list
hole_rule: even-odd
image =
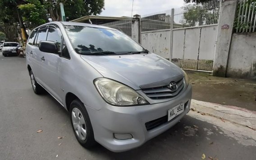
[(34, 28), (46, 23), (47, 11), (39, 0), (27, 0), (27, 4), (18, 5), (21, 10), (23, 22), (27, 27)]

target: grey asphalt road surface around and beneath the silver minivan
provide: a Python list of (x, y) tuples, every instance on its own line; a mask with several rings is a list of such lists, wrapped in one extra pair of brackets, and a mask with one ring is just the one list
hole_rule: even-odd
[(34, 94), (25, 61), (0, 53), (0, 160), (200, 160), (202, 154), (206, 160), (255, 159), (255, 146), (238, 143), (223, 128), (189, 116), (131, 151), (114, 153), (101, 145), (86, 150), (77, 142), (64, 108), (47, 93)]

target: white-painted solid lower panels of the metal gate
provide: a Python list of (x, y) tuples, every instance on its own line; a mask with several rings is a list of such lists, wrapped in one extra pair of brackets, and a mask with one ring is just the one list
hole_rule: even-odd
[[(217, 26), (173, 30), (173, 58), (213, 60)], [(170, 30), (142, 33), (142, 46), (164, 58), (169, 58)], [(198, 50), (199, 49), (199, 50)], [(199, 52), (198, 52), (199, 51)]]

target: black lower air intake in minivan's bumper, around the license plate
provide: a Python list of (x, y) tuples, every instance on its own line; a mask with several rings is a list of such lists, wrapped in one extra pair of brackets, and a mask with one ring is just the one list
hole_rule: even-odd
[[(187, 107), (187, 104), (188, 104), (188, 101), (184, 104), (184, 109)], [(174, 119), (172, 119), (171, 121), (174, 121), (177, 117), (174, 117)], [(171, 122), (171, 121), (169, 121), (169, 122)], [(164, 117), (157, 118), (153, 121), (148, 121), (148, 122), (145, 123), (146, 130), (152, 130), (155, 127), (158, 127), (158, 126), (160, 126), (164, 123), (167, 123), (167, 122), (168, 122), (168, 115), (166, 115)]]

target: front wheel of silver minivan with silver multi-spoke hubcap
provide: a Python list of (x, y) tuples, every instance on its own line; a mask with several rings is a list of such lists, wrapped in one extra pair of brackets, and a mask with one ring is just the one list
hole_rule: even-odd
[(95, 146), (96, 141), (88, 112), (79, 99), (73, 100), (70, 104), (69, 117), (78, 142), (87, 149)]

